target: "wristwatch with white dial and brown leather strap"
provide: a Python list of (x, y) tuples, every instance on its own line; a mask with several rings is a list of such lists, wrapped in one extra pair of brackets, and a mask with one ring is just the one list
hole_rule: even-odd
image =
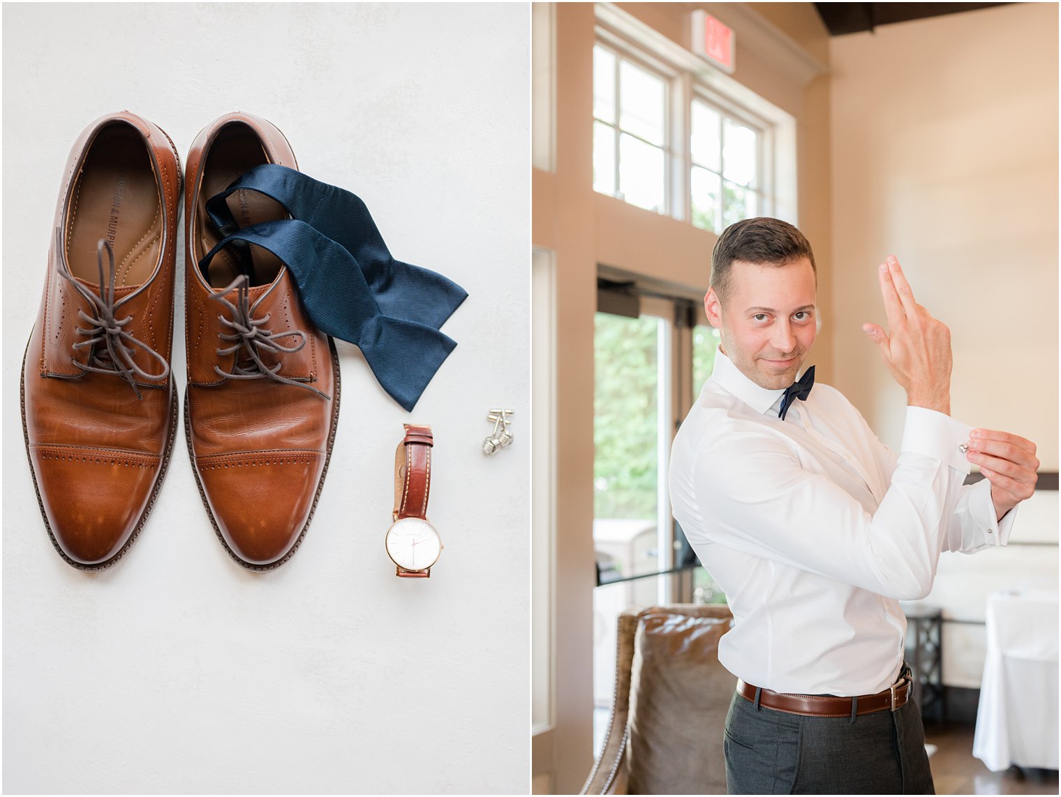
[(387, 556), (405, 578), (430, 578), (442, 540), (428, 522), (431, 492), (431, 427), (405, 423), (405, 436), (395, 451), (394, 525), (384, 540)]

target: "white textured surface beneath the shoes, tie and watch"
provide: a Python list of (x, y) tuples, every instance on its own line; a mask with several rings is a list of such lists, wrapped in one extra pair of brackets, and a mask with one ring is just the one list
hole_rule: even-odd
[[(528, 30), (523, 4), (4, 6), (4, 792), (526, 793)], [(21, 357), (69, 148), (121, 108), (181, 159), (222, 114), (271, 120), (305, 172), (365, 200), (395, 257), (470, 294), (411, 415), (341, 344), (328, 479), (269, 574), (214, 537), (182, 423), (115, 568), (69, 567), (40, 519)], [(498, 404), (516, 443), (487, 458)], [(435, 429), (430, 581), (396, 578), (383, 549), (406, 420)]]

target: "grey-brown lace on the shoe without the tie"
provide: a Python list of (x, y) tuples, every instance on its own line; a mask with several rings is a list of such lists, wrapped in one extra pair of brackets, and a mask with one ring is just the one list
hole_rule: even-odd
[[(62, 236), (59, 230), (56, 229), (56, 246), (62, 245)], [(58, 252), (58, 249), (57, 249)], [(107, 259), (110, 261), (110, 267), (108, 270), (107, 276), (109, 277), (106, 281), (104, 280), (104, 270), (103, 270), (103, 253), (107, 253)], [(72, 362), (77, 368), (81, 368), (82, 376), (88, 371), (93, 371), (95, 374), (116, 374), (129, 383), (133, 387), (133, 392), (136, 393), (138, 399), (143, 399), (140, 395), (140, 388), (137, 386), (136, 378), (145, 379), (153, 382), (158, 382), (170, 376), (170, 364), (166, 362), (166, 358), (159, 354), (155, 349), (151, 348), (143, 341), (139, 341), (128, 332), (125, 327), (129, 322), (133, 320), (132, 315), (127, 315), (121, 320), (115, 317), (115, 311), (117, 310), (115, 301), (115, 252), (110, 246), (108, 241), (100, 239), (95, 244), (95, 263), (99, 268), (100, 274), (100, 295), (97, 296), (92, 291), (87, 289), (74, 276), (70, 273), (70, 268), (66, 263), (66, 259), (62, 256), (57, 258), (58, 261), (58, 273), (64, 279), (70, 282), (81, 294), (82, 298), (88, 302), (93, 315), (89, 315), (84, 310), (79, 309), (79, 317), (90, 324), (91, 327), (88, 329), (84, 327), (75, 327), (77, 332), (83, 335), (88, 335), (87, 341), (79, 341), (72, 344), (72, 348), (81, 350), (84, 348), (89, 348), (90, 354), (87, 362), (81, 362), (76, 358), (71, 357), (70, 362)], [(106, 348), (103, 349), (98, 344), (103, 344)], [(136, 353), (136, 349), (139, 347), (143, 351), (147, 352), (147, 356), (155, 360), (162, 368), (161, 374), (150, 374), (149, 371), (141, 368), (136, 364), (133, 356)]]

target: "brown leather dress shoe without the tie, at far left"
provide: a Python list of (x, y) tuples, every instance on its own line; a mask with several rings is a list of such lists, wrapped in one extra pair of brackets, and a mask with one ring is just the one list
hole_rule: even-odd
[(173, 143), (134, 114), (98, 119), (70, 152), (21, 403), (45, 526), (82, 570), (139, 536), (173, 447), (179, 197)]

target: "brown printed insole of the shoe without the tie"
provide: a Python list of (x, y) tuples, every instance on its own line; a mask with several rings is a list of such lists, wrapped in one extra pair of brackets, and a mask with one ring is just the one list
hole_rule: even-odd
[[(73, 189), (66, 230), (71, 274), (92, 284), (100, 281), (95, 246), (102, 238), (115, 253), (115, 287), (145, 282), (158, 264), (161, 207), (143, 138), (124, 122), (104, 127)], [(103, 266), (109, 266), (105, 255)]]

